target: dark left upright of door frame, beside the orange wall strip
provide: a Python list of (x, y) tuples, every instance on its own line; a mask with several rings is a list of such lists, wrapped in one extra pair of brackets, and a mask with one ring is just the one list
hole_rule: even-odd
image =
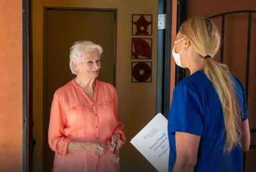
[(22, 0), (22, 171), (33, 165), (33, 61), (31, 0)]

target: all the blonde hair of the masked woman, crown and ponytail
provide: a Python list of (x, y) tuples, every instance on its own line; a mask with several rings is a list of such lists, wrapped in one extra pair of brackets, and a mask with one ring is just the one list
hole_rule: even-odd
[[(214, 58), (220, 47), (220, 33), (211, 19), (195, 17), (187, 20), (180, 26), (180, 33), (188, 37), (191, 46), (204, 58)], [(234, 147), (241, 147), (241, 108), (236, 97), (236, 88), (228, 72), (228, 67), (205, 58), (204, 72), (216, 89), (225, 121), (224, 152), (231, 152)]]

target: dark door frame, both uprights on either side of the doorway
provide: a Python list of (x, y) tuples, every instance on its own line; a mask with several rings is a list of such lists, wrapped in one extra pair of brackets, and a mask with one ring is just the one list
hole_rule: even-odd
[[(22, 171), (33, 171), (33, 43), (32, 0), (22, 0)], [(176, 1), (176, 0), (173, 0)], [(159, 14), (166, 15), (167, 30), (158, 30), (156, 111), (164, 116), (170, 108), (170, 43), (173, 1), (159, 0)], [(168, 18), (170, 17), (170, 18)], [(116, 40), (115, 40), (116, 41)], [(164, 75), (167, 74), (167, 75)], [(164, 95), (167, 95), (166, 97)]]

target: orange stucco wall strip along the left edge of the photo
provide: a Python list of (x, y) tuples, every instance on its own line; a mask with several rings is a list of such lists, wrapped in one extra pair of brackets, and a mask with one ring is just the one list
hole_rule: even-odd
[(22, 1), (0, 1), (0, 171), (22, 171)]

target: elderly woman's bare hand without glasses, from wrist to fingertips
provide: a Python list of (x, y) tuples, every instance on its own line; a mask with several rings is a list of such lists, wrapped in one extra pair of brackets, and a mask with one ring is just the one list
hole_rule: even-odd
[(106, 152), (107, 148), (102, 143), (97, 143), (94, 141), (84, 142), (84, 150), (92, 153), (93, 155), (102, 155)]

